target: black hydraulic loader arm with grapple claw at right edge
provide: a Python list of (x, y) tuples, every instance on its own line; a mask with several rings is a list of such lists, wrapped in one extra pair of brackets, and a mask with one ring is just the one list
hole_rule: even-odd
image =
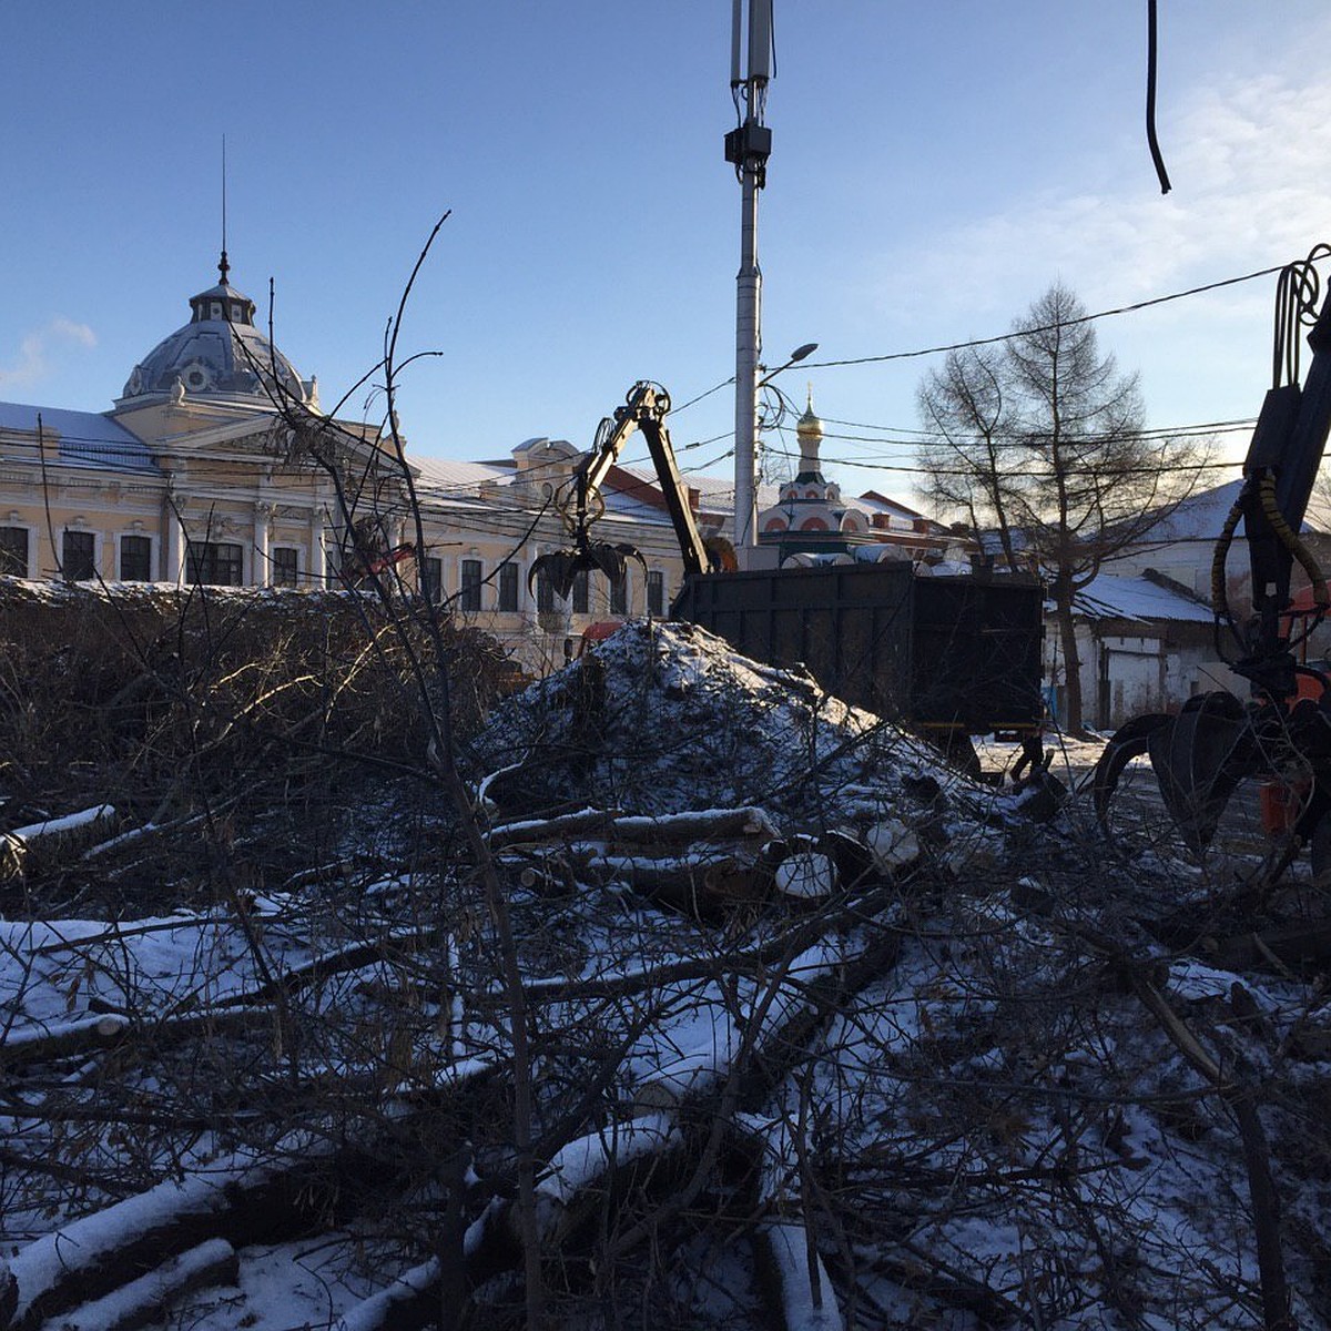
[[(1275, 382), (1266, 395), (1243, 463), (1243, 487), (1215, 544), (1211, 602), (1217, 646), (1251, 697), (1198, 695), (1175, 713), (1138, 716), (1109, 741), (1093, 775), (1095, 812), (1113, 827), (1114, 799), (1126, 769), (1149, 759), (1175, 832), (1195, 856), (1221, 827), (1230, 796), (1256, 781), (1267, 804), (1288, 815), (1272, 831), (1292, 833), (1291, 855), (1311, 843), (1314, 870), (1331, 870), (1331, 679), (1296, 660), (1328, 610), (1327, 582), (1299, 535), (1331, 433), (1331, 291), (1316, 309), (1318, 246), (1280, 274), (1276, 297)], [(1312, 350), (1298, 382), (1302, 326)], [(1227, 556), (1238, 534), (1248, 548), (1252, 615), (1242, 623), (1229, 598)], [(1298, 563), (1308, 580), (1307, 612), (1291, 611)], [(1225, 647), (1227, 638), (1231, 644)], [(1290, 862), (1279, 858), (1275, 873)]]

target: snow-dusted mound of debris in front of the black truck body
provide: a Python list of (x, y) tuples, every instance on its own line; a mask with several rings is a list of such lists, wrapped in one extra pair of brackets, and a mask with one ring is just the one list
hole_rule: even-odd
[(882, 719), (695, 624), (632, 622), (510, 699), (480, 740), (502, 813), (756, 804), (833, 825), (961, 781)]

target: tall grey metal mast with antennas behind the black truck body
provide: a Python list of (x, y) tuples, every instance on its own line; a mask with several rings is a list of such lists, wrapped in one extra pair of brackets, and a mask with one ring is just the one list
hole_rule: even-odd
[[(745, 33), (744, 9), (748, 5)], [(745, 43), (745, 36), (748, 41)], [(735, 294), (735, 547), (757, 544), (755, 441), (763, 350), (763, 270), (757, 265), (757, 192), (767, 184), (772, 130), (763, 124), (772, 77), (772, 0), (733, 0), (731, 97), (739, 126), (725, 136), (725, 160), (743, 190), (740, 270)], [(744, 556), (740, 556), (744, 567)]]

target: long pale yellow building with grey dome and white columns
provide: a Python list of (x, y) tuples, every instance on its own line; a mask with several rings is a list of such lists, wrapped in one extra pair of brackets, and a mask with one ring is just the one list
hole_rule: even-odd
[[(595, 575), (567, 602), (539, 580), (528, 592), (532, 560), (567, 544), (552, 496), (582, 450), (542, 438), (496, 462), (399, 459), (391, 435), (319, 413), (315, 382), (254, 326), (225, 253), (218, 269), (112, 410), (0, 403), (0, 574), (299, 588), (377, 567), (527, 668), (562, 663), (596, 619), (668, 611), (683, 566), (654, 482), (615, 469), (598, 530), (638, 548), (646, 578), (634, 564), (624, 584)], [(704, 487), (700, 526), (720, 531), (729, 488)]]

